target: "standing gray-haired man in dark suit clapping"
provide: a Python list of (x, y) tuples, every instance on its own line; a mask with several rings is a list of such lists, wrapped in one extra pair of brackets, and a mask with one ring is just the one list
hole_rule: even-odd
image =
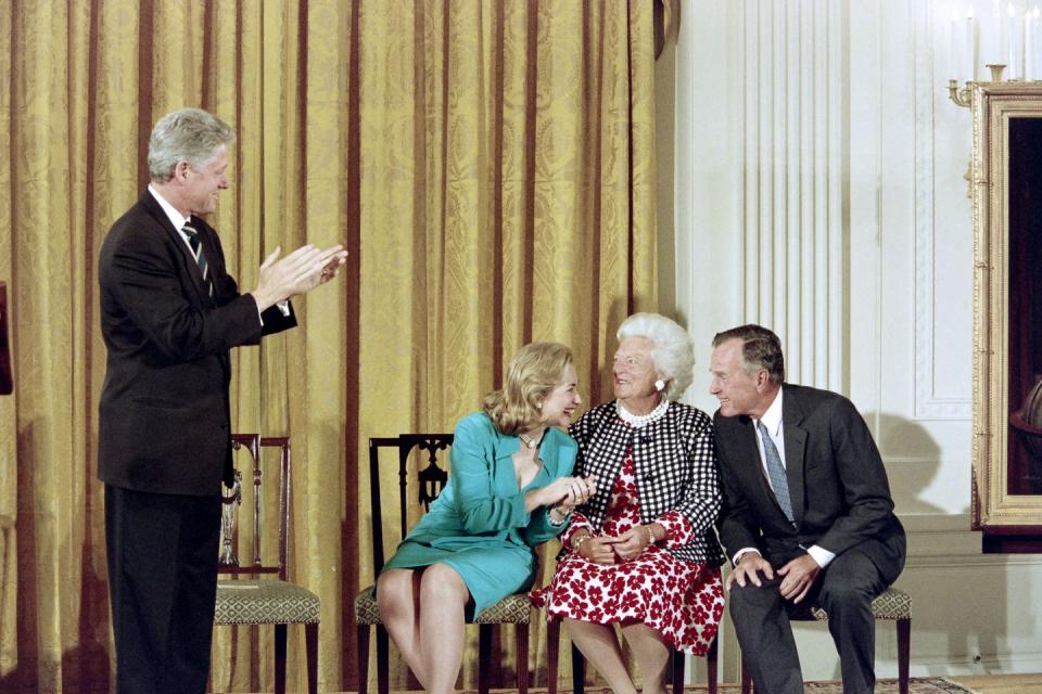
[(107, 367), (99, 421), (116, 691), (203, 692), (217, 590), (220, 483), (231, 484), (229, 349), (296, 325), (291, 296), (332, 279), (342, 246), (260, 266), (240, 294), (203, 219), (227, 190), (231, 128), (198, 108), (149, 140), (151, 183), (98, 266)]

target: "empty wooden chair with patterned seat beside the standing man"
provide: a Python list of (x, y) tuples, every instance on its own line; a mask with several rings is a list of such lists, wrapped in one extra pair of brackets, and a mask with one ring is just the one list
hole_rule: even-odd
[[(318, 692), (318, 624), (319, 600), (315, 593), (290, 583), (287, 564), (290, 524), (290, 440), (284, 436), (262, 437), (258, 434), (233, 434), (232, 448), (250, 455), (253, 478), (253, 542), (249, 563), (240, 563), (233, 545), (236, 510), (242, 500), (240, 471), (231, 497), (226, 497), (221, 518), (221, 554), (219, 573), (230, 578), (217, 581), (217, 611), (215, 625), (274, 625), (275, 626), (275, 691), (285, 692), (285, 627), (304, 625), (307, 650), (307, 691)], [(260, 558), (262, 485), (267, 474), (262, 470), (262, 451), (276, 449), (279, 455), (279, 551), (277, 564), (265, 564)], [(274, 472), (274, 471), (271, 471)], [(270, 496), (270, 494), (269, 494)]]

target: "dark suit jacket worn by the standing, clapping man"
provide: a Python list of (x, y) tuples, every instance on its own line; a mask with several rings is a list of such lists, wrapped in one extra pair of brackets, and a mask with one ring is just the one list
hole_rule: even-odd
[(98, 476), (148, 492), (212, 496), (230, 480), (229, 349), (296, 324), (240, 295), (217, 233), (192, 217), (211, 298), (178, 230), (149, 191), (101, 247), (101, 330), (109, 349)]

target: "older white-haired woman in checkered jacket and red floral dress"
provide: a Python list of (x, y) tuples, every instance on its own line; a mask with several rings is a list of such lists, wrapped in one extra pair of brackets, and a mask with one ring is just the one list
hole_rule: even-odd
[(691, 384), (687, 332), (657, 313), (636, 313), (617, 333), (614, 395), (569, 427), (575, 474), (597, 492), (576, 507), (551, 583), (533, 593), (549, 619), (619, 694), (635, 693), (613, 625), (644, 676), (664, 691), (673, 647), (704, 655), (724, 595), (712, 420), (676, 401)]

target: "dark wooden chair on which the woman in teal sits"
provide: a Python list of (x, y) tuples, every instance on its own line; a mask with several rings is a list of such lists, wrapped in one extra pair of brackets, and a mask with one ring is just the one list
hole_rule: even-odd
[[(398, 463), (398, 502), (401, 504), (401, 523), (398, 538), (405, 537), (408, 530), (407, 510), (409, 499), (407, 491), (408, 460), (412, 451), (427, 453), (427, 465), (418, 470), (417, 491), (412, 492), (411, 501), (419, 502), (424, 511), (448, 481), (448, 473), (439, 465), (439, 453), (453, 444), (452, 434), (402, 434), (394, 438), (369, 439), (369, 491), (372, 509), (372, 566), (373, 575), (378, 576), (384, 564), (383, 552), (383, 518), (381, 515), (380, 496), (380, 451), (394, 449), (397, 451)], [(421, 465), (417, 465), (418, 468)], [(392, 545), (395, 547), (395, 545)], [(492, 629), (496, 625), (514, 625), (514, 647), (518, 659), (517, 687), (520, 694), (529, 690), (529, 622), (531, 620), (532, 603), (528, 595), (519, 593), (499, 601), (484, 609), (474, 618), (478, 629), (478, 691), (487, 694), (490, 689), (488, 666), (492, 663)], [(390, 652), (387, 632), (380, 624), (380, 614), (377, 611), (377, 601), (373, 596), (373, 587), (363, 590), (355, 597), (355, 624), (358, 625), (358, 692), (364, 694), (369, 689), (369, 637), (370, 627), (377, 630), (377, 691), (387, 694), (391, 691)]]

